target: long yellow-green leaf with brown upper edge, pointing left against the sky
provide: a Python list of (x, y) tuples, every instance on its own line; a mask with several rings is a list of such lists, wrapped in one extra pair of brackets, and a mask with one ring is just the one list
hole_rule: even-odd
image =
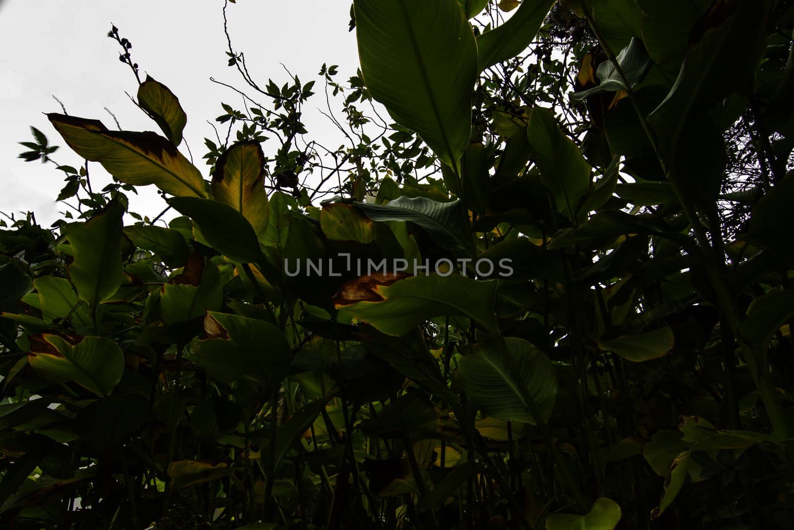
[(125, 184), (155, 184), (171, 195), (206, 197), (195, 165), (166, 138), (152, 132), (111, 131), (98, 120), (47, 114), (66, 143)]

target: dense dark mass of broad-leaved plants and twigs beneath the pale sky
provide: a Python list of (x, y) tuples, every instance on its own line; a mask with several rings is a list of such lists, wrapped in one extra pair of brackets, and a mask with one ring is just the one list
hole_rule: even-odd
[(792, 26), (355, 0), (345, 144), (229, 38), (206, 175), (114, 27), (160, 133), (25, 142), (71, 211), (0, 230), (0, 528), (790, 528)]

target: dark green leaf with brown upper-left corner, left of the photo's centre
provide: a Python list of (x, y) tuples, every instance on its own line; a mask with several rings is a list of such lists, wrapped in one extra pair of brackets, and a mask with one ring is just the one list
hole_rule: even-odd
[(218, 381), (249, 377), (277, 388), (287, 377), (290, 345), (273, 324), (210, 311), (204, 331), (208, 339), (196, 344), (195, 362)]

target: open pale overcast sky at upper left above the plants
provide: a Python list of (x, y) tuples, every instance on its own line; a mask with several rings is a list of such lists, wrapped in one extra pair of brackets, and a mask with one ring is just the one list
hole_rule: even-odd
[[(241, 98), (211, 83), (210, 75), (244, 86), (237, 70), (226, 66), (222, 7), (223, 0), (0, 0), (0, 211), (31, 210), (48, 226), (65, 210), (54, 202), (63, 185), (55, 166), (17, 158), (27, 150), (17, 142), (32, 141), (29, 126), (35, 126), (51, 145), (61, 146), (52, 155), (59, 164), (82, 163), (42, 114), (61, 111), (52, 95), (69, 114), (100, 119), (110, 129), (115, 124), (104, 107), (125, 130), (159, 132), (125, 95), (136, 93), (137, 82), (119, 62), (118, 44), (107, 37), (111, 22), (133, 43), (130, 52), (141, 77), (152, 75), (179, 97), (187, 112), (185, 140), (206, 177), (203, 138), (214, 137), (206, 120), (223, 114), (221, 101), (241, 107)], [(318, 95), (305, 107), (304, 122), (312, 138), (330, 145), (341, 141), (316, 109), (325, 105), (317, 73), (322, 63), (338, 64), (344, 80), (356, 72), (349, 8), (349, 0), (237, 0), (227, 10), (234, 47), (245, 52), (254, 79), (282, 85), (288, 77), (280, 63), (302, 83), (318, 79)], [(180, 150), (187, 156), (184, 144)], [(91, 167), (94, 189), (110, 181), (99, 164)], [(164, 207), (152, 186), (139, 193), (131, 198), (133, 211), (153, 216)]]

